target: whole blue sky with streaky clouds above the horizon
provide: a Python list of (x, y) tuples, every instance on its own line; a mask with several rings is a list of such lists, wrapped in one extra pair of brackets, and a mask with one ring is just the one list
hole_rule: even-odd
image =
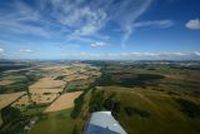
[(200, 1), (0, 0), (0, 59), (200, 60)]

